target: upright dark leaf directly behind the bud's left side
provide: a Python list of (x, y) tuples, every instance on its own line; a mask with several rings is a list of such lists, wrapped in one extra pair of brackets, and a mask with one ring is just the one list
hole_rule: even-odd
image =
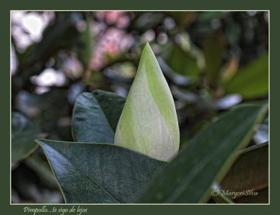
[(125, 98), (100, 90), (82, 93), (73, 111), (72, 133), (78, 142), (114, 144), (114, 137)]

